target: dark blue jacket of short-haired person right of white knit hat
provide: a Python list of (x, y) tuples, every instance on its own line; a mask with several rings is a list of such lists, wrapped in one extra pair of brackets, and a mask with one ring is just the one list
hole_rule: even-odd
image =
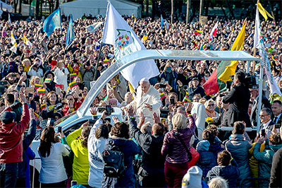
[(231, 165), (228, 166), (215, 166), (207, 173), (206, 182), (209, 182), (214, 177), (222, 177), (228, 183), (228, 187), (238, 187), (237, 180), (240, 175), (239, 168), (235, 160), (231, 160)]

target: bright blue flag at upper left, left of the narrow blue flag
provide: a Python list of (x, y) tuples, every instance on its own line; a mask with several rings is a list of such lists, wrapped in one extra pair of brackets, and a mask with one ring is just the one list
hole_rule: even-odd
[(51, 13), (46, 18), (46, 20), (44, 21), (44, 25), (43, 25), (43, 31), (49, 37), (56, 28), (61, 28), (61, 10), (60, 8), (56, 9), (56, 11)]

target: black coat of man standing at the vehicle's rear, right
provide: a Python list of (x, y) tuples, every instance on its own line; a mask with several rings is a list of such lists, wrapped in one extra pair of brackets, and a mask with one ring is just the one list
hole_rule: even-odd
[(223, 102), (228, 103), (226, 119), (228, 126), (233, 126), (234, 122), (244, 121), (247, 127), (251, 127), (250, 117), (247, 113), (250, 101), (250, 90), (243, 84), (234, 86), (231, 91), (224, 96)]

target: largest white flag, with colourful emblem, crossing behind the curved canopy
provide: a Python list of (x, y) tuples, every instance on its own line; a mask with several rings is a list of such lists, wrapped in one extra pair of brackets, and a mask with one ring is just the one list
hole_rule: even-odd
[[(114, 45), (115, 57), (121, 57), (133, 52), (146, 49), (128, 23), (119, 15), (118, 11), (108, 3), (106, 21), (102, 42)], [(123, 77), (137, 88), (142, 78), (152, 78), (159, 75), (159, 69), (153, 59), (138, 61), (121, 71)]]

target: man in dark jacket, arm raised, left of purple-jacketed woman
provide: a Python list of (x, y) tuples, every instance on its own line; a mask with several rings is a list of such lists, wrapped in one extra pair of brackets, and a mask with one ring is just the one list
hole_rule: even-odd
[(164, 128), (154, 124), (151, 134), (142, 134), (137, 129), (135, 118), (128, 120), (130, 134), (142, 148), (142, 165), (138, 170), (142, 187), (164, 187), (164, 161), (161, 147), (164, 142)]

